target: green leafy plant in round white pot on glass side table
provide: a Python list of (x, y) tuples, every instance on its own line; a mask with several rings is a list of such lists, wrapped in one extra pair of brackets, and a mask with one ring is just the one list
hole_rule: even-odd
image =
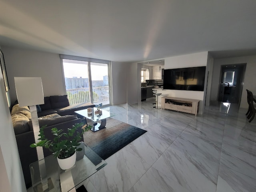
[[(51, 132), (54, 135), (53, 140), (48, 140), (44, 135), (44, 128), (47, 126), (42, 126), (39, 131), (40, 140), (38, 143), (33, 143), (30, 147), (44, 147), (49, 149), (54, 157), (57, 157), (59, 166), (61, 169), (66, 170), (74, 166), (76, 162), (76, 151), (81, 151), (82, 148), (77, 148), (80, 145), (80, 140), (84, 132), (91, 129), (92, 126), (85, 126), (81, 128), (83, 124), (75, 124), (72, 128), (68, 128), (65, 133), (62, 129), (52, 128)], [(81, 128), (82, 132), (78, 132), (77, 129)]]

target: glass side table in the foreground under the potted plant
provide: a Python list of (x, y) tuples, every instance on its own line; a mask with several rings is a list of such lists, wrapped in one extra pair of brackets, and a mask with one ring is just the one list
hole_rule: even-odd
[[(75, 188), (82, 185), (84, 180), (107, 165), (84, 142), (79, 147), (82, 148), (82, 151), (76, 152), (76, 164), (68, 170), (60, 169), (57, 158), (54, 158), (53, 155), (30, 164), (33, 191), (75, 192)], [(40, 164), (44, 164), (46, 170), (43, 172), (46, 171), (46, 178), (42, 178), (42, 174), (40, 174), (40, 167), (42, 167)]]

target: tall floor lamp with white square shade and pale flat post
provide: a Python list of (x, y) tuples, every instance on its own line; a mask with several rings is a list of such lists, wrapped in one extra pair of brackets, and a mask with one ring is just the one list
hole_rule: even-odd
[[(39, 142), (39, 123), (36, 105), (44, 104), (44, 93), (42, 86), (42, 79), (40, 77), (14, 77), (16, 94), (19, 106), (29, 106), (31, 112), (31, 120), (33, 125), (35, 142)], [(38, 160), (44, 159), (44, 152), (42, 147), (36, 147)], [(42, 190), (48, 189), (48, 182), (46, 178), (46, 168), (44, 161), (39, 163), (40, 176), (42, 181)]]

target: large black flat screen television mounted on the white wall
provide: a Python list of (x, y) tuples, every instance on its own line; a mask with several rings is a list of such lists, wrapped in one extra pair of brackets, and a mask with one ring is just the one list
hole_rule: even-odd
[(204, 91), (206, 67), (164, 70), (164, 89)]

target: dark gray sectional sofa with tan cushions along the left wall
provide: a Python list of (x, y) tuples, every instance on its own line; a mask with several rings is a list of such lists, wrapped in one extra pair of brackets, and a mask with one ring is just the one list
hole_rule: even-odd
[[(44, 100), (45, 104), (40, 105), (41, 110), (39, 109), (40, 112), (38, 111), (38, 121), (40, 127), (47, 125), (44, 129), (44, 133), (46, 138), (50, 140), (53, 139), (51, 133), (52, 128), (56, 127), (66, 132), (67, 129), (71, 128), (74, 124), (81, 123), (81, 119), (74, 115), (74, 111), (95, 106), (91, 103), (70, 106), (67, 101), (67, 96), (50, 96), (45, 97)], [(38, 160), (36, 148), (30, 148), (30, 144), (35, 142), (30, 109), (27, 106), (20, 107), (18, 104), (15, 104), (12, 107), (11, 118), (25, 184), (26, 187), (29, 188), (32, 185), (29, 165)], [(44, 149), (44, 157), (49, 155), (51, 155), (51, 152)]]

